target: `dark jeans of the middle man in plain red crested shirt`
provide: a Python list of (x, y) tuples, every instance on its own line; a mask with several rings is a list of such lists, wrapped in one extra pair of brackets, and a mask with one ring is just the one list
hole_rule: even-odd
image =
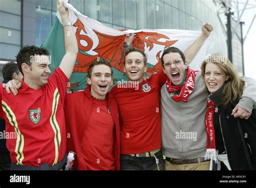
[[(158, 158), (159, 170), (164, 170), (162, 150), (154, 154)], [(120, 170), (158, 170), (154, 157), (134, 157), (127, 154), (120, 155)]]

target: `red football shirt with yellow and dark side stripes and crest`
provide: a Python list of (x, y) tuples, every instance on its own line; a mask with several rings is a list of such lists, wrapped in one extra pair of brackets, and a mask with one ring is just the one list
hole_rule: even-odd
[(64, 97), (69, 79), (60, 68), (48, 83), (32, 89), (22, 80), (16, 96), (0, 85), (0, 117), (6, 122), (6, 139), (12, 163), (50, 166), (61, 161), (66, 152)]

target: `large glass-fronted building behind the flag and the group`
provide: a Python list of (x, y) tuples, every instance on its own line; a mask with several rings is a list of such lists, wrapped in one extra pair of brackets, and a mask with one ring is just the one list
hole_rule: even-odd
[[(214, 31), (207, 53), (227, 55), (225, 34), (213, 0), (70, 0), (78, 11), (115, 29)], [(55, 0), (2, 0), (0, 5), (0, 61), (14, 60), (21, 46), (41, 46), (56, 15)], [(233, 47), (234, 48), (234, 47)], [(0, 66), (1, 67), (1, 66)], [(2, 75), (2, 71), (0, 73)]]

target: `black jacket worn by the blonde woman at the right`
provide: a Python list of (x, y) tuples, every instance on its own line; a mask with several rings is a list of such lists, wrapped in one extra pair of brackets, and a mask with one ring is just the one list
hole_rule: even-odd
[(224, 108), (221, 105), (223, 89), (217, 90), (210, 99), (218, 107), (213, 123), (214, 127), (221, 128), (230, 167), (232, 170), (256, 170), (256, 109), (248, 120), (235, 118), (231, 114), (238, 101)]

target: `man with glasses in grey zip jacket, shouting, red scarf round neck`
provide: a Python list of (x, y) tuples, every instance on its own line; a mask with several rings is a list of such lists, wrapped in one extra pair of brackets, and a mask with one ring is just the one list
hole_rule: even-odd
[[(183, 52), (175, 47), (164, 51), (161, 63), (167, 75), (166, 84), (161, 88), (165, 170), (209, 170), (210, 161), (204, 161), (208, 90), (201, 73), (188, 68)], [(232, 115), (247, 118), (256, 101), (256, 84), (253, 79), (243, 79), (247, 87)]]

